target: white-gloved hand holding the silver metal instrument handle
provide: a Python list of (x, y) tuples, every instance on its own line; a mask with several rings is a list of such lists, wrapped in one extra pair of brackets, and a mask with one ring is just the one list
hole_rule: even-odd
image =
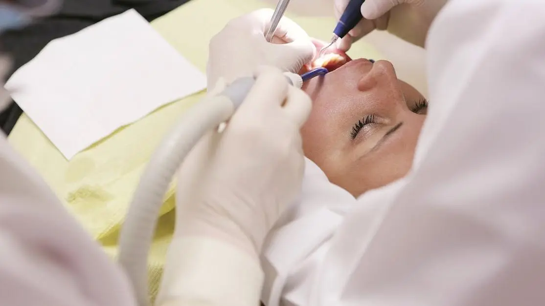
[(272, 13), (271, 9), (261, 9), (235, 18), (210, 40), (208, 88), (220, 77), (230, 83), (251, 76), (260, 65), (298, 73), (312, 60), (316, 47), (305, 30), (287, 17), (278, 23), (272, 43), (265, 40)]

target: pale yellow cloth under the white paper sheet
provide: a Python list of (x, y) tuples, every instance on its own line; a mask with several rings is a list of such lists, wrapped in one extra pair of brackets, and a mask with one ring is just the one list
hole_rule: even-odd
[[(192, 0), (153, 21), (152, 26), (185, 58), (205, 71), (210, 38), (232, 18), (265, 6), (257, 0)], [(309, 35), (323, 40), (329, 40), (335, 25), (333, 18), (288, 16)], [(359, 57), (357, 54), (379, 58), (373, 48), (363, 44), (355, 46), (350, 54), (355, 58)], [(9, 141), (38, 170), (93, 238), (115, 257), (119, 226), (150, 155), (177, 118), (203, 95), (204, 92), (197, 93), (168, 104), (117, 130), (70, 161), (64, 159), (24, 114), (11, 132)], [(152, 296), (156, 295), (166, 249), (172, 237), (173, 208), (171, 189), (165, 198), (149, 259)]]

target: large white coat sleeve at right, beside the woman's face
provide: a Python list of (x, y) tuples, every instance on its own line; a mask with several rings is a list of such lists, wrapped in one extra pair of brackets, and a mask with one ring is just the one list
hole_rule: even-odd
[(544, 16), (538, 0), (451, 0), (439, 13), (414, 168), (359, 199), (310, 304), (544, 303)]

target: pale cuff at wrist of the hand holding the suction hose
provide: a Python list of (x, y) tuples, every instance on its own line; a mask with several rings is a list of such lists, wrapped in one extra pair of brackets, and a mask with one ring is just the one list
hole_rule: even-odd
[(220, 240), (174, 238), (158, 303), (256, 306), (263, 286), (257, 258)]

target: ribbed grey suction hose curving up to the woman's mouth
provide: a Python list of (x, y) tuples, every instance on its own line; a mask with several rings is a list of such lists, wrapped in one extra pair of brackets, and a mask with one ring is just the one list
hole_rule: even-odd
[[(301, 88), (300, 76), (286, 73), (286, 78)], [(138, 305), (150, 305), (148, 253), (174, 173), (205, 133), (233, 115), (254, 83), (252, 77), (240, 78), (220, 95), (204, 98), (193, 106), (160, 143), (146, 166), (119, 234), (118, 261), (132, 283)]]

